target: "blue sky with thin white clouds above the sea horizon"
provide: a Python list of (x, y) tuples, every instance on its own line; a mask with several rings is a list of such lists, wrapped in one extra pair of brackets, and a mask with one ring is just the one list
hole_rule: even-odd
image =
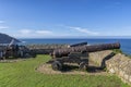
[(0, 33), (16, 38), (130, 37), (131, 0), (0, 0)]

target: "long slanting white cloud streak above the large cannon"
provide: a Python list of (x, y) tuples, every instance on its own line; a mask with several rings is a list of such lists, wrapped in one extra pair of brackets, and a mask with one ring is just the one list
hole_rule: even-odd
[(87, 35), (99, 35), (99, 33), (88, 30), (87, 28), (82, 28), (82, 27), (72, 27), (72, 26), (70, 26), (69, 28), (74, 29), (74, 30), (80, 32), (80, 33), (87, 34)]

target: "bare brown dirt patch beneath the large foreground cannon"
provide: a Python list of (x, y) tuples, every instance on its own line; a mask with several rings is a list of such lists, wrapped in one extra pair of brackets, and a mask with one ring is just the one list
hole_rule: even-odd
[(44, 63), (36, 70), (44, 74), (81, 74), (81, 75), (107, 75), (107, 72), (90, 62), (87, 71), (80, 71), (76, 64), (66, 64), (63, 71), (53, 71), (51, 64)]

